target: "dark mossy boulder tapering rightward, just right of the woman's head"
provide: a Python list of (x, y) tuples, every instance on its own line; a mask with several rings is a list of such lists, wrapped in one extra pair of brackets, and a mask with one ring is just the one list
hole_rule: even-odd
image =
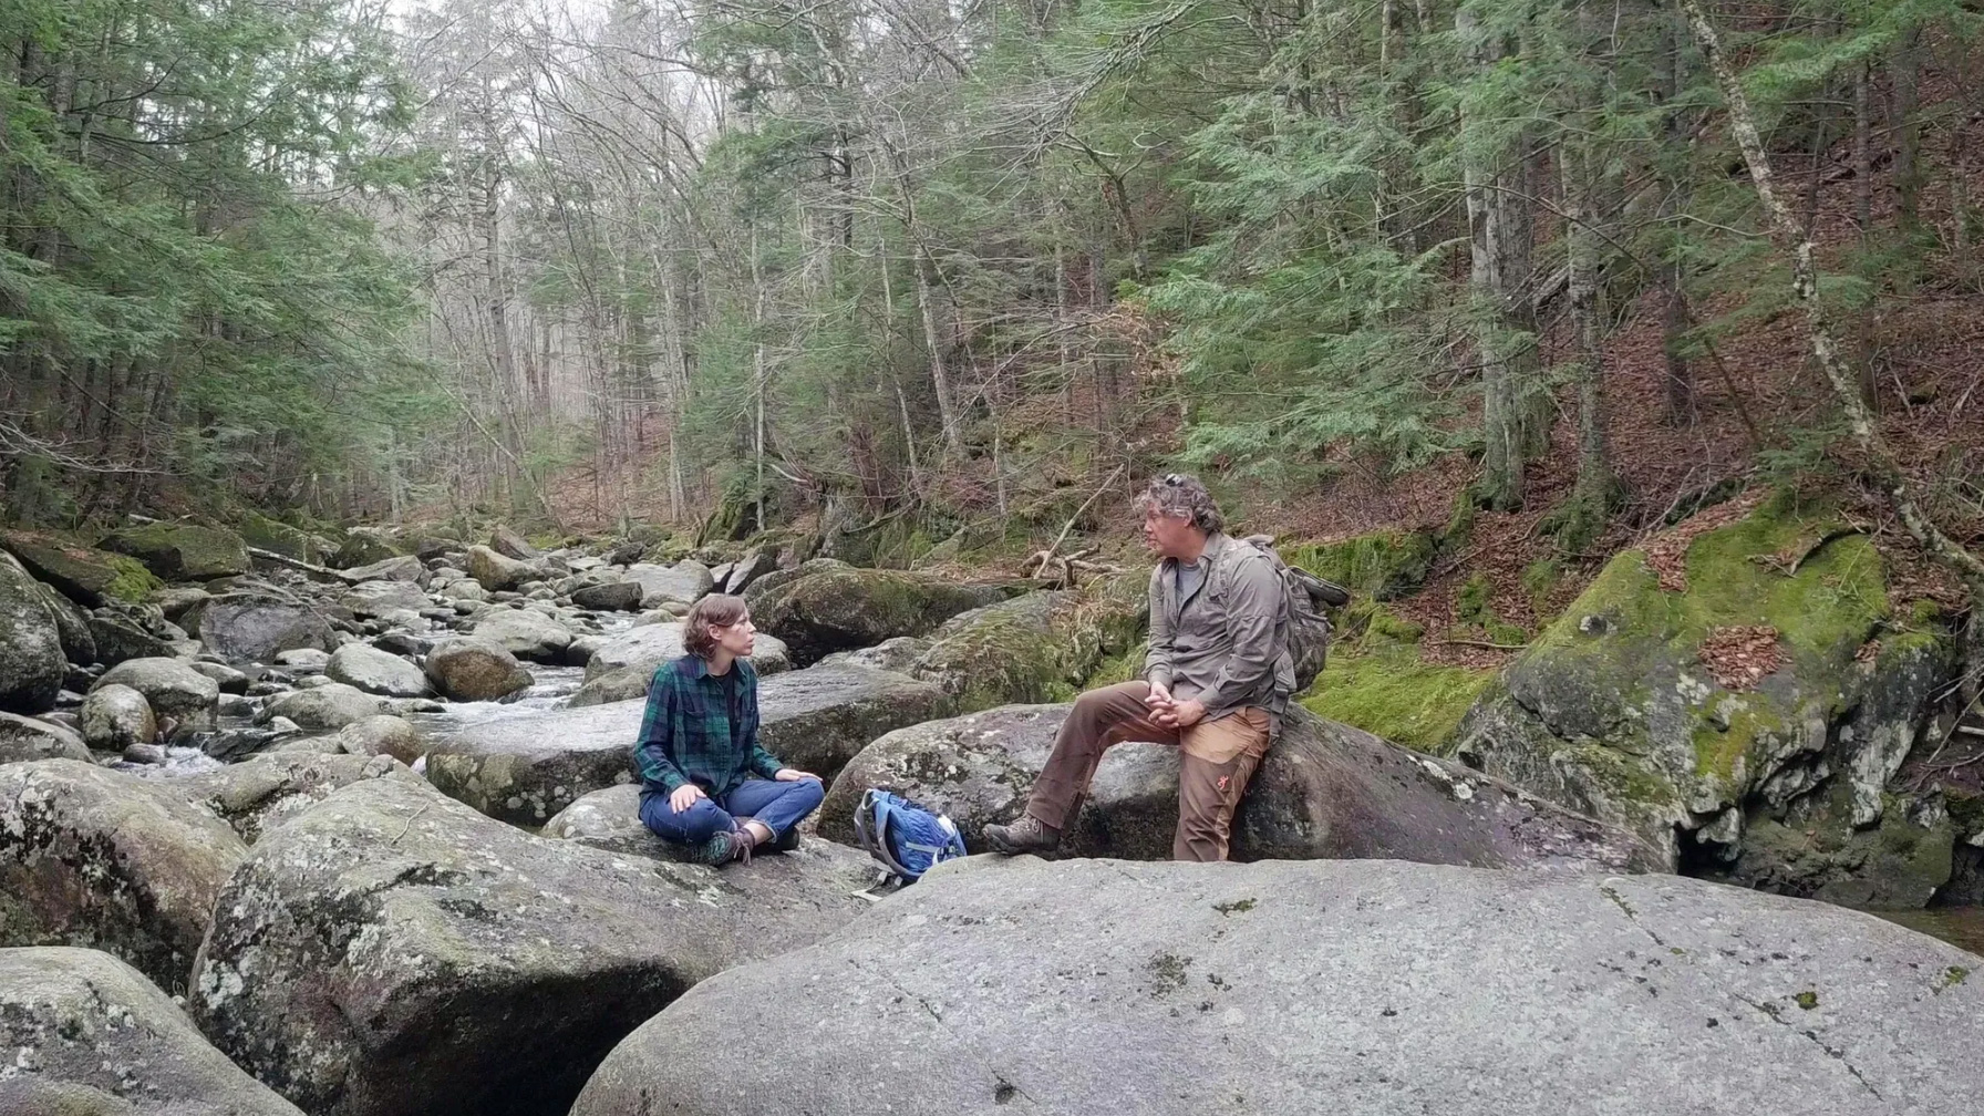
[(833, 651), (927, 635), (952, 616), (1006, 596), (1000, 586), (813, 560), (796, 578), (760, 580), (746, 600), (752, 622), (784, 639), (794, 663), (811, 665)]

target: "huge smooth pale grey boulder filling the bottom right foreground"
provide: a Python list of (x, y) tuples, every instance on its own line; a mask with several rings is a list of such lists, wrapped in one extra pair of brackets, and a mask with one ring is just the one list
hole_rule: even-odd
[[(1958, 1116), (1978, 965), (1673, 876), (974, 858), (698, 985), (571, 1116)], [(819, 1025), (738, 1058), (770, 1003)]]

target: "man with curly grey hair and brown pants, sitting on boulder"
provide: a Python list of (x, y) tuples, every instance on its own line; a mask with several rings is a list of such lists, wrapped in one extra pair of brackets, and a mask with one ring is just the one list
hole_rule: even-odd
[(1173, 860), (1226, 860), (1234, 806), (1280, 735), (1296, 691), (1282, 578), (1270, 558), (1224, 534), (1196, 477), (1153, 481), (1137, 500), (1151, 574), (1145, 681), (1091, 689), (1054, 739), (1026, 814), (986, 826), (994, 852), (1052, 852), (1081, 812), (1103, 751), (1119, 741), (1178, 747)]

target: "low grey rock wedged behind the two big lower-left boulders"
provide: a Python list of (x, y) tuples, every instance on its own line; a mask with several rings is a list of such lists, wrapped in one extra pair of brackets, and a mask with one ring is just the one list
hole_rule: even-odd
[(254, 755), (220, 770), (175, 778), (171, 786), (234, 826), (244, 842), (256, 844), (341, 786), (367, 778), (423, 782), (389, 755), (294, 751)]

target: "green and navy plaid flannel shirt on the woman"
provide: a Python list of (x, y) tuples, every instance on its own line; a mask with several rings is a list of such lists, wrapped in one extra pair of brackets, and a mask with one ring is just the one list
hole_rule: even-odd
[(730, 719), (722, 675), (698, 655), (663, 663), (647, 683), (647, 713), (633, 747), (641, 798), (694, 782), (720, 798), (750, 776), (772, 778), (786, 767), (758, 743), (758, 671), (746, 659), (738, 673), (738, 717)]

